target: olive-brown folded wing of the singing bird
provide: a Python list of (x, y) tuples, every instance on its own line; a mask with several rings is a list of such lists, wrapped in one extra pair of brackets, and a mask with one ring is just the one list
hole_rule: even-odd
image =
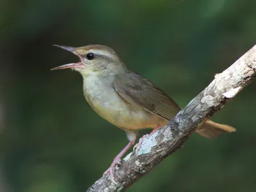
[(116, 76), (113, 86), (129, 104), (140, 106), (166, 120), (171, 120), (180, 111), (179, 106), (166, 93), (134, 72)]

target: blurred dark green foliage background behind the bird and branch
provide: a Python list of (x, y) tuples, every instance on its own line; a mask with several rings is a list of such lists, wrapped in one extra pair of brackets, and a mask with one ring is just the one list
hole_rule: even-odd
[[(52, 44), (104, 44), (182, 107), (256, 40), (256, 1), (1, 0), (0, 191), (83, 192), (127, 144), (86, 104), (78, 59)], [(255, 191), (255, 83), (127, 191)], [(147, 131), (140, 132), (140, 136)]]

